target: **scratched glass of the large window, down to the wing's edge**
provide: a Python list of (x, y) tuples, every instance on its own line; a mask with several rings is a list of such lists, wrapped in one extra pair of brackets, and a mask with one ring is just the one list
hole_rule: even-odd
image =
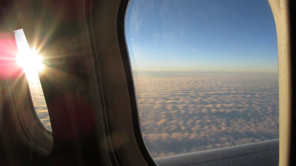
[(125, 29), (153, 157), (279, 138), (268, 1), (131, 0)]

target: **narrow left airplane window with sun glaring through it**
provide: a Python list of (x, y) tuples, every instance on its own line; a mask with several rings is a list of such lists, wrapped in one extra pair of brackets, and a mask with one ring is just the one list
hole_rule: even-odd
[(22, 67), (22, 70), (26, 74), (36, 114), (44, 127), (52, 131), (43, 90), (38, 76), (38, 72), (42, 72), (44, 68), (42, 57), (38, 55), (38, 51), (29, 48), (22, 29), (15, 31), (15, 39), (18, 49), (16, 56), (17, 64)]

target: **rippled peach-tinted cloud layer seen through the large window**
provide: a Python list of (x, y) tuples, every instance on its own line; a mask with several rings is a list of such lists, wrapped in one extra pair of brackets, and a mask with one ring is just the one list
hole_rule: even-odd
[(279, 137), (277, 74), (138, 71), (134, 81), (153, 157)]

